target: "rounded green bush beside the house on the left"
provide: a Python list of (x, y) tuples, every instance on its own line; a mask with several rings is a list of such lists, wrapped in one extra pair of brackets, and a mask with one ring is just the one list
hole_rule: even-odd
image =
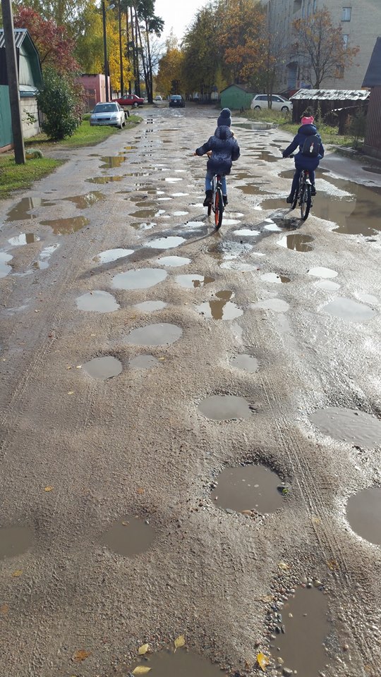
[(53, 140), (72, 136), (80, 124), (80, 92), (54, 68), (44, 70), (44, 88), (37, 94), (40, 111), (44, 114), (42, 130)]

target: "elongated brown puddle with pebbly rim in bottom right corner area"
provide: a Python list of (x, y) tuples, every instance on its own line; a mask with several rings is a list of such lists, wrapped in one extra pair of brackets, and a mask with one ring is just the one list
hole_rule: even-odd
[(327, 597), (315, 587), (296, 590), (282, 608), (282, 626), (284, 633), (273, 642), (276, 658), (300, 677), (318, 677), (328, 662), (323, 645), (330, 631)]

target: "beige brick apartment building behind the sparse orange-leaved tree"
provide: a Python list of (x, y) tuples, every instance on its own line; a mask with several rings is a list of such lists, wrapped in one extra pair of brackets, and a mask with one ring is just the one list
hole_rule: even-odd
[(341, 26), (344, 43), (358, 46), (360, 51), (352, 66), (344, 68), (338, 77), (325, 80), (322, 86), (326, 89), (361, 89), (373, 47), (377, 37), (381, 36), (381, 0), (262, 0), (262, 4), (267, 8), (272, 35), (283, 48), (276, 85), (278, 92), (292, 92), (310, 84), (308, 63), (303, 63), (298, 54), (293, 53), (292, 45), (297, 38), (292, 24), (295, 19), (308, 17), (323, 8), (329, 10), (332, 24)]

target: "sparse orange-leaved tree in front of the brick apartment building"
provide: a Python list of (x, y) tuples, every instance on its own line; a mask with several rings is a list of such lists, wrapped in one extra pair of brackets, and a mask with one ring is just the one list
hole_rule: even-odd
[(359, 47), (344, 44), (341, 26), (334, 26), (324, 8), (308, 17), (296, 19), (296, 53), (306, 62), (306, 79), (318, 89), (327, 78), (342, 76), (353, 63)]

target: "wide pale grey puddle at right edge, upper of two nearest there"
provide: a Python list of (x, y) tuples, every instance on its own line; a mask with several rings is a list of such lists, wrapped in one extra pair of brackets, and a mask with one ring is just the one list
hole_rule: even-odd
[(381, 421), (363, 411), (327, 407), (317, 409), (309, 419), (323, 435), (365, 449), (374, 449), (380, 445)]

